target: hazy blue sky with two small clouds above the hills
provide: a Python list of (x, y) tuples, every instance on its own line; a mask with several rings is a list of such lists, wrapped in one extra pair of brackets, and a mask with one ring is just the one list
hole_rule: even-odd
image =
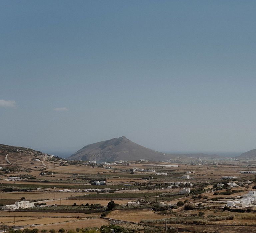
[(0, 143), (256, 148), (255, 1), (0, 1)]

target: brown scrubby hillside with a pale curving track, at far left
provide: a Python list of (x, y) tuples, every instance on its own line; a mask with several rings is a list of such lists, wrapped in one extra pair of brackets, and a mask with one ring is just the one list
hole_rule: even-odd
[[(7, 154), (8, 156), (6, 157)], [(30, 163), (33, 161), (33, 159), (42, 154), (42, 152), (30, 148), (0, 144), (1, 165), (31, 167), (32, 165)], [(33, 166), (42, 166), (41, 162), (33, 161), (33, 163)]]

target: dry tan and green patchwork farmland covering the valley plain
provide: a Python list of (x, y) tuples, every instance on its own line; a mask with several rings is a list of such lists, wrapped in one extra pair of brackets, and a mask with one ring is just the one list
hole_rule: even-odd
[[(79, 162), (77, 164), (60, 166), (58, 160), (47, 161), (46, 159), (45, 163), (47, 166), (44, 171), (49, 172), (49, 174), (55, 172), (54, 175), (39, 175), (42, 172), (42, 166), (29, 172), (14, 170), (8, 175), (2, 175), (0, 203), (3, 205), (11, 204), (23, 197), (25, 200), (35, 202), (42, 200), (42, 202), (49, 206), (42, 205), (30, 211), (26, 209), (15, 212), (0, 211), (0, 222), (1, 224), (12, 226), (15, 220), (15, 225), (24, 225), (25, 227), (29, 227), (31, 224), (39, 224), (35, 226), (39, 230), (59, 230), (60, 228), (68, 230), (77, 227), (100, 227), (110, 224), (110, 221), (101, 218), (103, 214), (109, 219), (124, 221), (118, 224), (125, 226), (130, 231), (133, 229), (135, 232), (143, 232), (145, 226), (136, 225), (129, 221), (140, 223), (140, 221), (144, 220), (157, 221), (164, 218), (184, 219), (184, 221), (193, 218), (199, 221), (199, 224), (180, 224), (178, 222), (176, 224), (167, 224), (168, 226), (178, 227), (179, 232), (185, 232), (186, 230), (201, 232), (202, 229), (209, 233), (216, 230), (221, 233), (241, 232), (242, 229), (244, 232), (256, 232), (255, 227), (250, 226), (255, 224), (256, 221), (254, 213), (254, 211), (256, 212), (256, 205), (251, 205), (250, 211), (247, 211), (247, 208), (242, 208), (244, 212), (223, 210), (228, 200), (246, 194), (248, 190), (253, 190), (255, 175), (240, 173), (242, 170), (248, 170), (248, 163), (240, 161), (240, 164), (237, 165), (237, 162), (233, 160), (209, 159), (204, 161), (205, 164), (197, 165), (193, 164), (195, 161), (196, 159), (189, 158), (187, 160), (180, 159), (180, 161), (173, 163), (152, 162), (152, 164), (161, 165), (154, 167), (157, 172), (167, 173), (166, 176), (156, 176), (153, 172), (135, 171), (134, 174), (131, 172), (130, 169), (134, 167), (152, 168), (150, 165), (145, 165), (145, 162), (134, 162), (129, 166), (116, 165), (115, 168), (108, 169), (83, 165), (79, 164)], [(203, 163), (203, 161), (200, 160), (200, 163)], [(162, 166), (170, 164), (177, 164), (179, 166)], [(256, 168), (251, 166), (249, 170), (256, 170)], [(188, 171), (192, 173), (188, 173)], [(74, 173), (78, 175), (74, 175)], [(20, 176), (23, 174), (33, 176), (33, 181), (8, 181), (6, 179), (8, 176)], [(184, 174), (189, 174), (191, 178), (182, 179), (181, 176)], [(216, 183), (223, 182), (226, 185), (228, 182), (221, 178), (224, 175), (237, 176), (234, 182), (251, 180), (252, 183), (245, 183), (232, 189), (228, 189), (228, 186), (216, 189)], [(44, 182), (40, 182), (42, 180)], [(106, 180), (108, 185), (91, 185), (91, 182), (94, 180)], [(193, 183), (193, 187), (190, 187), (191, 193), (179, 194), (183, 185), (167, 189), (169, 182)], [(20, 191), (6, 191), (5, 188), (8, 187)], [(36, 190), (37, 188), (39, 189)], [(104, 189), (104, 192), (81, 192), (87, 188)], [(70, 189), (70, 191), (64, 191), (64, 189)], [(227, 192), (227, 195), (219, 195), (221, 192)], [(119, 204), (119, 206), (114, 207), (112, 211), (106, 212), (107, 205), (111, 199), (114, 200), (115, 204)], [(143, 206), (126, 206), (129, 201), (137, 200), (151, 203), (150, 206), (154, 210)], [(184, 202), (191, 203), (194, 206), (192, 210), (184, 210)], [(85, 206), (87, 203), (89, 205)], [(179, 203), (182, 203), (182, 205), (176, 206)], [(103, 206), (103, 209), (98, 209), (98, 206), (91, 209), (91, 205), (95, 204), (100, 204)], [(57, 206), (54, 207), (53, 205)], [(175, 208), (170, 209), (170, 205)], [(40, 210), (40, 208), (42, 209)], [(232, 219), (223, 220), (225, 216), (229, 215), (233, 216)], [(220, 218), (218, 221), (208, 221), (211, 217), (217, 218), (217, 216)], [(204, 225), (201, 225), (200, 222), (204, 223)], [(227, 224), (232, 226), (227, 226)], [(153, 225), (164, 227), (163, 224), (157, 222)]]

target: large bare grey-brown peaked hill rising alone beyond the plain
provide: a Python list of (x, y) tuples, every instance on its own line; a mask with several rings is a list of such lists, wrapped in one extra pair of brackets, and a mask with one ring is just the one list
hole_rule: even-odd
[(69, 159), (83, 161), (117, 161), (149, 159), (162, 161), (168, 156), (155, 150), (138, 145), (126, 137), (112, 138), (84, 146)]

